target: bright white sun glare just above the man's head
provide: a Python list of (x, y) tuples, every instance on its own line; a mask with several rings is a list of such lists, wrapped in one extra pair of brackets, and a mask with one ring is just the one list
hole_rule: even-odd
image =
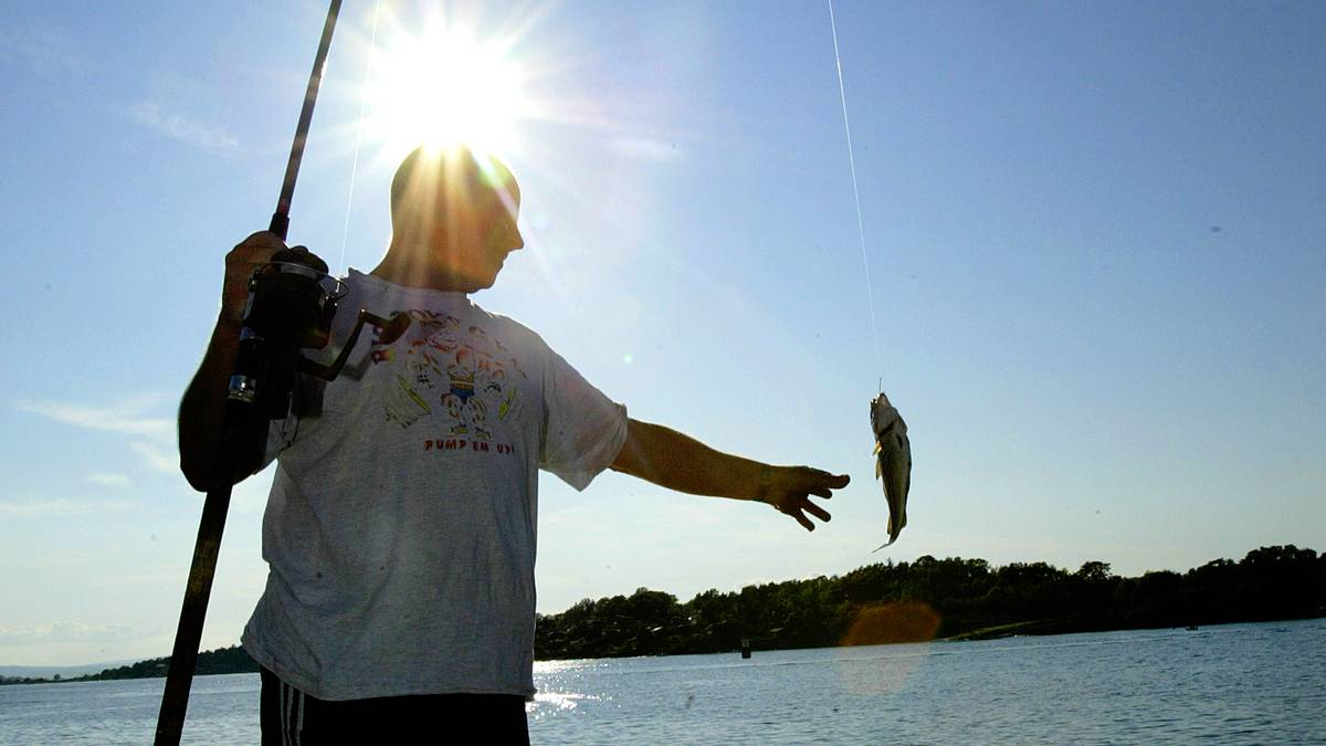
[(517, 122), (533, 110), (505, 40), (443, 21), (392, 36), (373, 62), (370, 137), (395, 151), (464, 145), (503, 157), (517, 147)]

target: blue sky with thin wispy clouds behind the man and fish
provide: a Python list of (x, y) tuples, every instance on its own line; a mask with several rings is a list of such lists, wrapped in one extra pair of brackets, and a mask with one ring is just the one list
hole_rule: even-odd
[[(476, 300), (635, 417), (853, 477), (809, 535), (545, 478), (541, 611), (926, 554), (1131, 575), (1326, 548), (1326, 7), (834, 8), (873, 295), (823, 3), (476, 19), (522, 29), (557, 113), (520, 123), (528, 248)], [(373, 12), (342, 12), (292, 214), (337, 268), (389, 236), (398, 146), (354, 157)], [(324, 13), (0, 8), (0, 664), (170, 649), (202, 506), (174, 409), (225, 251), (271, 216)], [(916, 467), (907, 530), (871, 555), (880, 380)], [(269, 481), (237, 488), (204, 646), (261, 591)]]

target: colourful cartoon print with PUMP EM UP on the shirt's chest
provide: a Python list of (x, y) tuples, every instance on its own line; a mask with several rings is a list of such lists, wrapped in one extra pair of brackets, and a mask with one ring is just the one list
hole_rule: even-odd
[(495, 438), (495, 423), (518, 414), (520, 388), (528, 378), (497, 337), (448, 313), (408, 309), (404, 337), (391, 345), (373, 341), (371, 358), (386, 364), (395, 381), (383, 417), (403, 429), (424, 421), (424, 450), (512, 453)]

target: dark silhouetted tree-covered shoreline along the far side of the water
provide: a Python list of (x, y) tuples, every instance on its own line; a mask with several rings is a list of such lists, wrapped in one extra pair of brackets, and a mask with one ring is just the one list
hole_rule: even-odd
[[(753, 649), (916, 642), (939, 637), (1054, 634), (1326, 616), (1326, 554), (1261, 547), (1184, 573), (1120, 577), (1105, 561), (1075, 571), (1044, 561), (991, 567), (930, 555), (842, 576), (716, 589), (678, 603), (663, 591), (585, 599), (538, 615), (540, 660), (670, 656)], [(64, 681), (166, 676), (170, 657)], [(239, 645), (199, 654), (198, 676), (253, 673)], [(0, 684), (50, 680), (5, 678)]]

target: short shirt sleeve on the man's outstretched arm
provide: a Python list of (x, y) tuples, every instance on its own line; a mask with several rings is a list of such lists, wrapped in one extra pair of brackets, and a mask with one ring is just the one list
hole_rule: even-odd
[(626, 443), (626, 408), (607, 398), (560, 354), (544, 366), (544, 433), (538, 466), (583, 490)]

